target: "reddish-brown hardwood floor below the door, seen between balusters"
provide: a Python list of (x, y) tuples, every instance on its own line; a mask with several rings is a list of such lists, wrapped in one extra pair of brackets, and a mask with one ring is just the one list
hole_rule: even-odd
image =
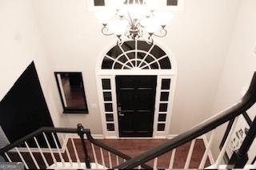
[[(166, 141), (166, 139), (104, 139), (101, 141), (109, 145), (110, 147), (117, 149), (119, 152), (123, 152), (128, 156), (134, 157), (134, 156), (138, 156), (142, 152), (146, 152), (150, 148), (154, 148), (159, 144), (162, 144), (163, 142)], [(82, 152), (81, 141), (78, 139), (74, 139), (74, 144), (78, 150), (79, 159), (81, 160), (81, 162), (84, 162), (85, 156)], [(67, 147), (70, 151), (71, 159), (75, 162), (76, 156), (74, 154), (74, 149), (73, 149), (71, 140), (68, 141)], [(92, 147), (88, 140), (86, 140), (86, 147), (88, 149), (91, 162), (94, 162)], [(95, 147), (98, 164), (102, 164), (100, 149), (97, 146), (94, 146), (94, 147)], [(190, 143), (183, 144), (182, 146), (176, 149), (176, 154), (174, 158), (174, 168), (184, 168), (184, 165), (186, 162), (186, 156), (189, 152), (189, 149), (190, 149)], [(204, 152), (205, 152), (205, 145), (203, 143), (203, 140), (201, 139), (196, 140), (194, 144), (194, 151), (190, 161), (190, 168), (198, 168)], [(17, 153), (10, 153), (9, 155), (11, 160), (21, 161), (18, 158)], [(53, 164), (53, 160), (50, 156), (50, 153), (44, 153), (44, 155), (46, 156), (48, 163)], [(103, 150), (103, 155), (104, 155), (104, 161), (105, 161), (106, 167), (110, 167), (108, 152)], [(22, 153), (22, 156), (24, 157), (24, 159), (26, 160), (30, 168), (34, 168), (34, 169), (36, 168), (34, 166), (33, 160), (31, 159), (29, 153)], [(56, 160), (58, 162), (61, 161), (60, 157), (58, 156), (58, 153), (54, 153), (54, 156), (56, 157)], [(63, 153), (62, 156), (65, 161), (68, 161), (66, 152)], [(170, 163), (170, 156), (171, 156), (171, 152), (167, 152), (166, 154), (158, 157), (158, 168), (160, 169), (168, 168)], [(36, 160), (38, 160), (38, 164), (40, 165), (40, 167), (46, 168), (45, 164), (43, 163), (42, 157), (40, 156), (40, 153), (34, 153), (34, 157), (36, 157)], [(116, 166), (117, 165), (116, 156), (114, 156), (113, 154), (110, 154), (110, 157), (112, 161), (112, 166)], [(118, 158), (119, 164), (122, 163), (123, 161), (124, 160), (122, 160), (122, 158)], [(153, 166), (154, 160), (151, 160), (146, 164)], [(206, 166), (209, 166), (209, 165), (210, 165), (210, 160), (208, 158), (206, 160)]]

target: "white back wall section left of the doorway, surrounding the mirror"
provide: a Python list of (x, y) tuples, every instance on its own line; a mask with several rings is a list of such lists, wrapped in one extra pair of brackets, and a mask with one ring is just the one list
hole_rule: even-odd
[[(97, 31), (101, 28), (94, 16), (86, 12), (85, 1), (33, 2), (50, 65), (54, 71), (82, 72), (89, 107), (89, 114), (86, 115), (62, 114), (62, 110), (52, 114), (59, 116), (61, 126), (76, 127), (78, 123), (82, 123), (92, 133), (102, 134), (94, 69), (101, 47), (107, 45), (110, 38), (104, 38)], [(54, 78), (51, 81), (55, 81)], [(57, 101), (61, 106), (59, 97)], [(90, 107), (91, 104), (96, 104), (96, 108)]]

